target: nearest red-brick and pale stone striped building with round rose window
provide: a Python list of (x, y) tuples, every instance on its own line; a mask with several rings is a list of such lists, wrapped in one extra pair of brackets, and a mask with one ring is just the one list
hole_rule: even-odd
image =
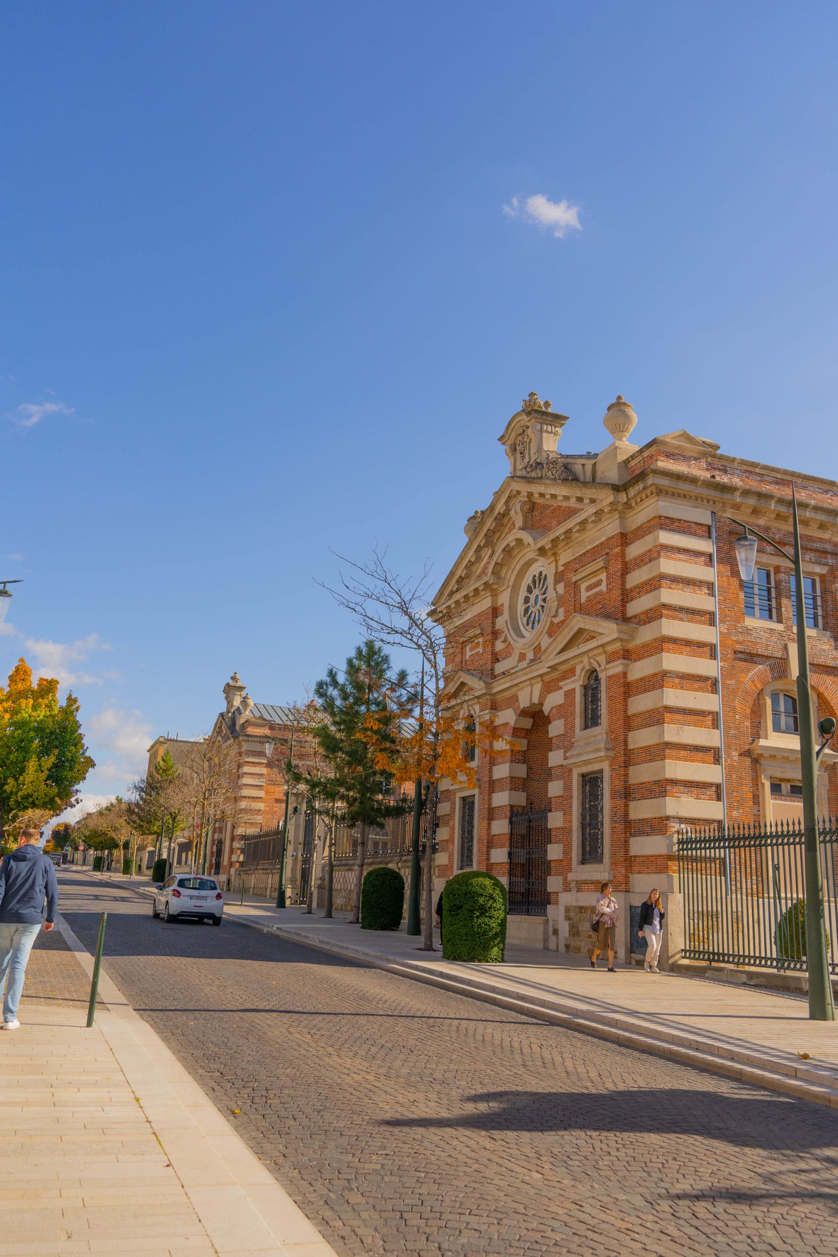
[[(800, 816), (792, 574), (760, 548), (743, 586), (729, 517), (790, 548), (794, 479), (817, 718), (835, 715), (838, 484), (683, 430), (633, 444), (622, 397), (602, 453), (560, 454), (567, 422), (535, 393), (510, 419), (509, 475), (435, 598), (447, 699), (504, 739), (476, 788), (443, 783), (437, 886), (489, 869), (510, 940), (582, 953), (611, 879), (628, 960), (652, 886), (677, 950), (682, 827)], [(835, 758), (820, 762), (832, 812)]]

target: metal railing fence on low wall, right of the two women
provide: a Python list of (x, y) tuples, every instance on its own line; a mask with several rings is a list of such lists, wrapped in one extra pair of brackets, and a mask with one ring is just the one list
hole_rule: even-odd
[[(838, 973), (838, 822), (818, 825), (829, 969)], [(803, 826), (734, 825), (678, 836), (683, 955), (807, 968)]]

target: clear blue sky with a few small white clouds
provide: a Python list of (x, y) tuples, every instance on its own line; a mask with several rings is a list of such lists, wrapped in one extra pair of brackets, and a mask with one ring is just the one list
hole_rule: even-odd
[(281, 703), (344, 660), (329, 547), (441, 579), (530, 388), (572, 453), (622, 392), (641, 442), (835, 476), (837, 38), (765, 0), (4, 6), (0, 671), (72, 685), (88, 793), (234, 669)]

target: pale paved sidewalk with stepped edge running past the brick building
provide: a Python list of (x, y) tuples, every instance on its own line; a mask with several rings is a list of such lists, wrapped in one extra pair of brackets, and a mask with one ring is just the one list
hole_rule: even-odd
[(225, 911), (391, 972), (838, 1109), (838, 1022), (810, 1022), (807, 1001), (797, 996), (634, 967), (594, 973), (584, 958), (534, 948), (509, 947), (499, 965), (460, 964), (443, 960), (441, 950), (417, 950), (421, 939), (403, 928), (362, 930), (347, 914), (325, 920), (299, 908), (278, 911), (264, 900), (239, 905), (235, 896)]

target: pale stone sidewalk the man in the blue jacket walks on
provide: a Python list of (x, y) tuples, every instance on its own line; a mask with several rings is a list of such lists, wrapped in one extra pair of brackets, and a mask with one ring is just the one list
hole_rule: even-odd
[[(0, 1257), (334, 1257), (59, 919), (0, 1036)], [(75, 952), (75, 955), (73, 954)]]

